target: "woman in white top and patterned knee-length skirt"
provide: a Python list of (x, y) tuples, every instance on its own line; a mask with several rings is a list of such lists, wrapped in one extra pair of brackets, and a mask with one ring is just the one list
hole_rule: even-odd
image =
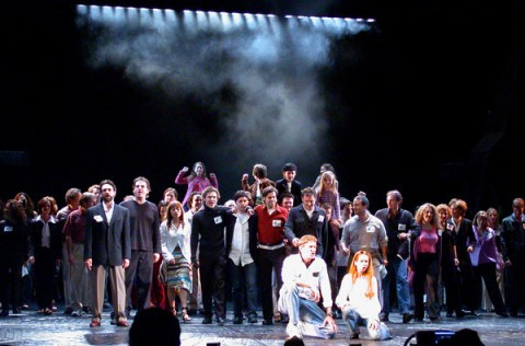
[(167, 264), (167, 297), (174, 315), (177, 314), (175, 296), (180, 298), (183, 322), (188, 315), (188, 297), (191, 293), (190, 227), (184, 221), (183, 205), (175, 200), (167, 207), (167, 219), (161, 224), (162, 255)]

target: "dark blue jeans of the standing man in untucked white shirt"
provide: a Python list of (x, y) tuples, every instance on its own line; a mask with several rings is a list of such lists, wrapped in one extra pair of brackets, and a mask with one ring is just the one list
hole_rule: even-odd
[(243, 315), (244, 288), (246, 288), (246, 301), (248, 315), (257, 315), (257, 269), (255, 262), (245, 266), (230, 262), (233, 286), (233, 313), (236, 316)]

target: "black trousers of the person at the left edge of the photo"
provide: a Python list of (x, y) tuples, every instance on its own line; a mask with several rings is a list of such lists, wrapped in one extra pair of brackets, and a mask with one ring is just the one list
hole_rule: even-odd
[(0, 301), (2, 310), (20, 307), (22, 282), (22, 261), (19, 256), (0, 256)]

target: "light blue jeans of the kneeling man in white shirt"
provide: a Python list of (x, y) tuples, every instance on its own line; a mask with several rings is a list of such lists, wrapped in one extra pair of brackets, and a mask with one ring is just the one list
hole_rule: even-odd
[(317, 337), (323, 335), (324, 338), (332, 338), (336, 335), (331, 325), (322, 326), (326, 313), (315, 301), (299, 297), (299, 290), (294, 284), (283, 286), (279, 299), (279, 307), (284, 307), (281, 312), (288, 313), (289, 323), (298, 325), (301, 322), (303, 335)]

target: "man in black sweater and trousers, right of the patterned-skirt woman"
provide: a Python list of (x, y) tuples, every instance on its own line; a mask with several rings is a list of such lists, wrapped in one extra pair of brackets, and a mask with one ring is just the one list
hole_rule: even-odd
[[(191, 263), (196, 268), (200, 266), (200, 284), (205, 308), (202, 324), (212, 322), (213, 298), (215, 321), (219, 325), (223, 325), (226, 316), (224, 278), (228, 265), (224, 228), (233, 215), (230, 208), (217, 205), (221, 195), (213, 186), (205, 188), (202, 197), (205, 198), (205, 206), (194, 216), (191, 222)], [(198, 246), (199, 258), (197, 260)]]

